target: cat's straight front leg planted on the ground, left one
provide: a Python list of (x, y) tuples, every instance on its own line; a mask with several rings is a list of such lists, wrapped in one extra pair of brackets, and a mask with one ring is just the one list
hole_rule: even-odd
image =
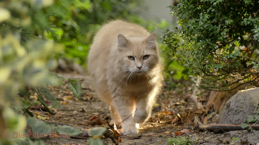
[(117, 95), (113, 100), (113, 106), (116, 108), (123, 121), (122, 126), (124, 135), (138, 133), (138, 124), (135, 123), (133, 115), (131, 115), (135, 111), (133, 98)]

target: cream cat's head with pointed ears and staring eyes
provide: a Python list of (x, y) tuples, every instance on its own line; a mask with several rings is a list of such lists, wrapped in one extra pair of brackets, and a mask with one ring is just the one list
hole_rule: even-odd
[(124, 71), (142, 74), (152, 70), (159, 63), (155, 33), (146, 38), (126, 38), (119, 34), (118, 50)]

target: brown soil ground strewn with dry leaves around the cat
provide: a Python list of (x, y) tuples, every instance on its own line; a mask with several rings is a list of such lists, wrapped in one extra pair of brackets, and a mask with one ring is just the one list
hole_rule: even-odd
[[(89, 81), (87, 75), (73, 73), (59, 74), (65, 78), (82, 78), (83, 82)], [(62, 86), (48, 88), (50, 90), (69, 87), (66, 81)], [(211, 132), (199, 130), (197, 122), (217, 123), (219, 115), (213, 110), (197, 109), (196, 104), (189, 99), (194, 88), (190, 82), (181, 82), (172, 90), (163, 89), (153, 108), (152, 117), (140, 127), (139, 133), (133, 136), (121, 135), (120, 145), (168, 145), (168, 139), (175, 137), (180, 131), (186, 133), (180, 136), (190, 139), (193, 145), (257, 145), (259, 131), (231, 131)], [(90, 83), (82, 85), (83, 93), (76, 98), (69, 89), (54, 91), (62, 108), (52, 108), (56, 113), (47, 117), (48, 122), (66, 123), (77, 127), (84, 132), (103, 125), (90, 125), (93, 116), (100, 116), (102, 121), (110, 122), (109, 107), (101, 102), (91, 89)], [(207, 92), (199, 90), (199, 100), (206, 105)], [(31, 110), (35, 112), (35, 110)], [(47, 116), (47, 112), (37, 111), (40, 116)], [(105, 144), (114, 145), (111, 139), (103, 139)], [(47, 145), (88, 145), (88, 139), (51, 138), (45, 139)], [(183, 144), (185, 145), (185, 144)]]

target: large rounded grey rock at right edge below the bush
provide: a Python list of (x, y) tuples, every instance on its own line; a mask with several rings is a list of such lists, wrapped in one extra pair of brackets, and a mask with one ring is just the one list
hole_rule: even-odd
[(224, 106), (219, 124), (242, 124), (252, 115), (259, 103), (259, 88), (241, 90)]

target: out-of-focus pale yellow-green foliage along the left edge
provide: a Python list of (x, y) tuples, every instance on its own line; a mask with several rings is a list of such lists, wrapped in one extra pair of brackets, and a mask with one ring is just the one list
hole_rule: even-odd
[(63, 47), (42, 38), (49, 28), (43, 9), (52, 2), (0, 1), (0, 143), (3, 145), (34, 144), (28, 138), (2, 137), (3, 132), (25, 131), (26, 119), (20, 115), (22, 100), (17, 93), (25, 92), (26, 86), (58, 84), (58, 78), (47, 70), (56, 67), (56, 61), (51, 58)]

